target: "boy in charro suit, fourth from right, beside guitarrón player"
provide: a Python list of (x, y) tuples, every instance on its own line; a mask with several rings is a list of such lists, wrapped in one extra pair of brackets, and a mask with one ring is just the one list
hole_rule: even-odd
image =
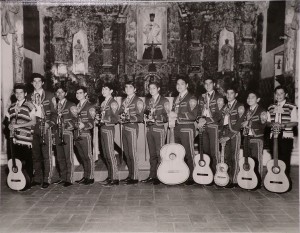
[[(198, 126), (205, 127), (203, 132), (203, 152), (211, 157), (211, 168), (215, 173), (219, 153), (219, 123), (222, 119), (221, 108), (224, 99), (221, 94), (214, 90), (215, 82), (208, 77), (204, 80), (206, 93), (200, 98), (198, 113)], [(219, 109), (220, 107), (220, 109)]]

